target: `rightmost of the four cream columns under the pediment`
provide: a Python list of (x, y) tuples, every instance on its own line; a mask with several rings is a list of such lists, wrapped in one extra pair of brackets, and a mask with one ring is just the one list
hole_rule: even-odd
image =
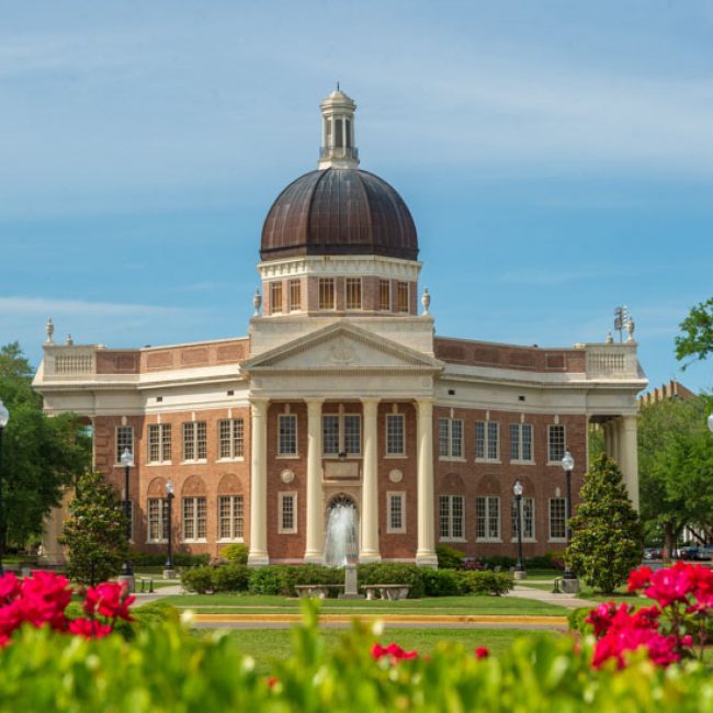
[(418, 406), (418, 548), (416, 563), (438, 566), (433, 506), (433, 399), (419, 398)]

